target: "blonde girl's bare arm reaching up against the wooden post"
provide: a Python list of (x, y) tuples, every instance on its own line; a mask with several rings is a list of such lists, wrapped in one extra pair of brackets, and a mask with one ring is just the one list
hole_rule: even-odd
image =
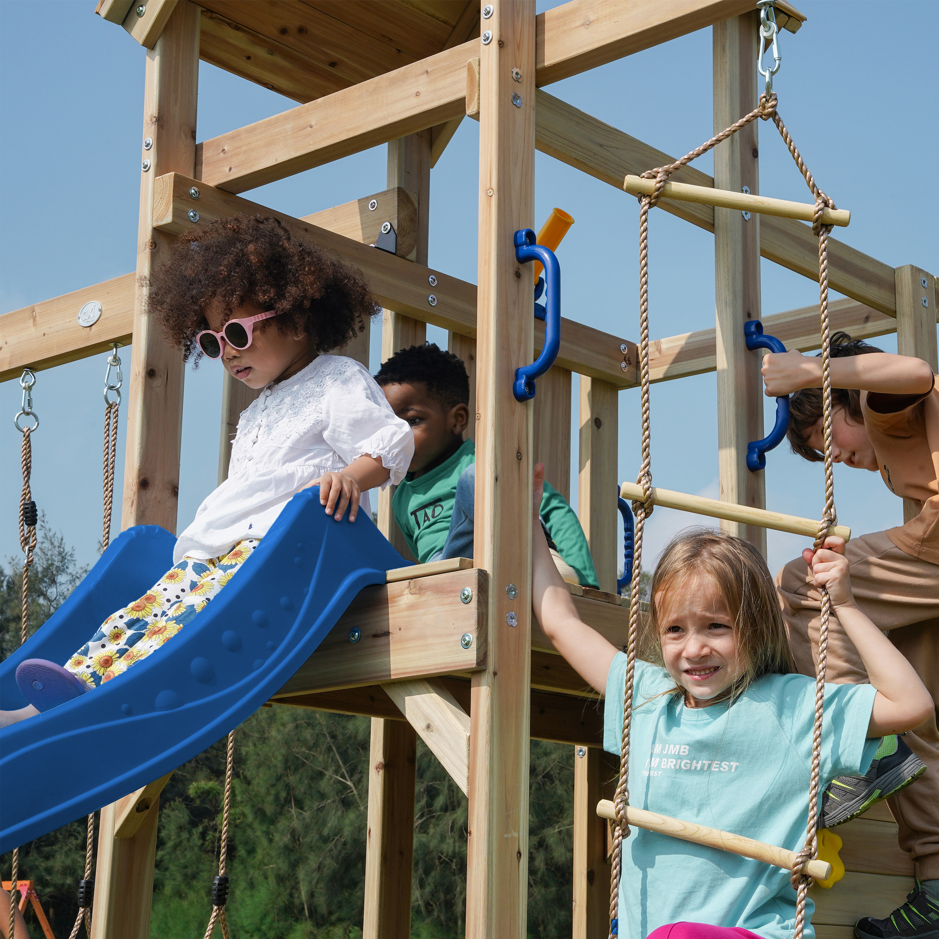
[(577, 616), (567, 584), (551, 559), (538, 524), (544, 484), (545, 468), (539, 463), (534, 470), (532, 495), (535, 517), (531, 526), (531, 608), (555, 649), (588, 685), (606, 694), (609, 666), (617, 650)]

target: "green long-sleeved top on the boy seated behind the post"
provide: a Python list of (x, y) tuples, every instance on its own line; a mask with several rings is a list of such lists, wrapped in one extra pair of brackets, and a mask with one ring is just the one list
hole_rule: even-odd
[[(447, 540), (450, 519), (454, 514), (456, 483), (464, 469), (476, 461), (472, 440), (464, 440), (450, 459), (429, 472), (398, 485), (392, 500), (394, 520), (398, 523), (414, 557), (426, 562)], [(596, 571), (583, 529), (567, 501), (547, 483), (541, 500), (541, 516), (558, 553), (577, 571), (584, 587), (596, 587)]]

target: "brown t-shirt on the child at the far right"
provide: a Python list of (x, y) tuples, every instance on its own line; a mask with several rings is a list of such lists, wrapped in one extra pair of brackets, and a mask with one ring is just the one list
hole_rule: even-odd
[(939, 388), (921, 395), (861, 393), (864, 427), (891, 492), (921, 509), (887, 537), (901, 551), (939, 564)]

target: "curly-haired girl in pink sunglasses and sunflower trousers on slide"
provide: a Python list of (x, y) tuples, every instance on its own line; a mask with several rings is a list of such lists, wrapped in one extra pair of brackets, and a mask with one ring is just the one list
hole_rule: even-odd
[[(367, 490), (396, 485), (414, 439), (359, 362), (337, 355), (376, 312), (362, 273), (274, 218), (235, 216), (186, 233), (149, 285), (150, 316), (194, 356), (263, 389), (242, 414), (228, 478), (199, 506), (174, 567), (117, 610), (65, 667), (23, 662), (32, 703), (0, 726), (110, 681), (189, 623), (237, 573), (301, 489), (338, 522), (371, 514)], [(21, 674), (22, 673), (22, 674)], [(38, 705), (38, 707), (36, 706)]]

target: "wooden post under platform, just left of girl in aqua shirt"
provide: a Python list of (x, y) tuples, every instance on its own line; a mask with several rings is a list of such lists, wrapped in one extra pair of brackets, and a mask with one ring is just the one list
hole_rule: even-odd
[(609, 928), (607, 823), (600, 799), (616, 792), (619, 762), (596, 747), (574, 747), (574, 939), (597, 939)]

